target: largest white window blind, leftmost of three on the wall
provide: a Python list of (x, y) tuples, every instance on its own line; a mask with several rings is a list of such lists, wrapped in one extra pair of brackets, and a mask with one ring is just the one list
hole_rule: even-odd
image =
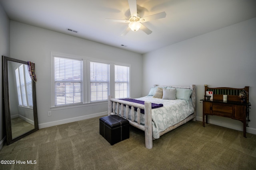
[(55, 106), (83, 102), (83, 62), (54, 57)]

